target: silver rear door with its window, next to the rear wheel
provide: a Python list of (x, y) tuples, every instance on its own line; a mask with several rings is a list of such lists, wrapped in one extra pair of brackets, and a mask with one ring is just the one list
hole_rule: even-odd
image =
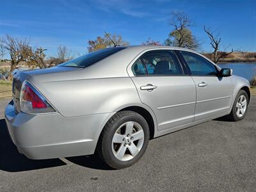
[(154, 111), (159, 131), (193, 122), (195, 83), (184, 74), (175, 52), (148, 51), (132, 65), (132, 72), (141, 102)]

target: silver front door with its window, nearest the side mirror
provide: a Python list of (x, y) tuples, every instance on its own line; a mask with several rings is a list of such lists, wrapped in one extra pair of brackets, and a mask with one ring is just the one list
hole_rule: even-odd
[(225, 114), (232, 104), (230, 77), (218, 77), (218, 68), (199, 54), (179, 51), (196, 84), (195, 120)]

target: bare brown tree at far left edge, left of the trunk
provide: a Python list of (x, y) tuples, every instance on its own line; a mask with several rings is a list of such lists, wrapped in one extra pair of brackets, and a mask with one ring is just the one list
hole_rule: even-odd
[[(29, 47), (30, 40), (28, 38), (15, 38), (10, 35), (6, 35), (1, 39), (3, 49), (10, 54), (11, 66), (10, 74), (13, 70), (19, 67), (21, 61), (26, 61), (29, 58), (31, 47)], [(11, 76), (9, 76), (11, 77)]]

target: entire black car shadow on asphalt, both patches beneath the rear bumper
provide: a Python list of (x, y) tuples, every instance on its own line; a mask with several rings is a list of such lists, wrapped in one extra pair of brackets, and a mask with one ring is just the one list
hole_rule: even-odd
[[(97, 170), (111, 170), (97, 156), (67, 157), (68, 161)], [(0, 120), (0, 170), (6, 172), (24, 172), (41, 168), (66, 165), (61, 159), (32, 160), (20, 154), (12, 143), (4, 119)]]

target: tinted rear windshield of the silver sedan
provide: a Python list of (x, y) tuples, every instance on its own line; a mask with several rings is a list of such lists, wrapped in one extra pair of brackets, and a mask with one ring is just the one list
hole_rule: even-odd
[(111, 54), (114, 54), (115, 52), (121, 51), (122, 49), (125, 49), (125, 47), (111, 47), (111, 48), (101, 49), (99, 51), (94, 51), (94, 52), (85, 54), (84, 56), (81, 56), (74, 60), (70, 60), (65, 63), (61, 63), (58, 66), (88, 67), (89, 65), (92, 65), (93, 63), (96, 63), (97, 61), (100, 61), (100, 60), (110, 56)]

